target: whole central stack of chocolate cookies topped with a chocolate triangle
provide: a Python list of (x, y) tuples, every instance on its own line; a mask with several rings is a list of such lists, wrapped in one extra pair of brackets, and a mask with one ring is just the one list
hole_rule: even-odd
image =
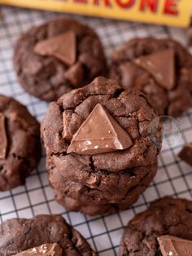
[(129, 208), (157, 170), (155, 117), (146, 95), (103, 77), (51, 103), (41, 138), (57, 201), (91, 215)]

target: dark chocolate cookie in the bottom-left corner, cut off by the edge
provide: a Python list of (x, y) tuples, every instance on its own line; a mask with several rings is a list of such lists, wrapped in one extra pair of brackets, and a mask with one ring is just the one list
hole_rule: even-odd
[(81, 234), (59, 215), (38, 215), (31, 219), (12, 218), (2, 223), (1, 256), (18, 254), (27, 249), (32, 249), (33, 252), (34, 248), (42, 250), (40, 255), (46, 254), (47, 249), (56, 249), (58, 252), (62, 249), (61, 255), (96, 256)]

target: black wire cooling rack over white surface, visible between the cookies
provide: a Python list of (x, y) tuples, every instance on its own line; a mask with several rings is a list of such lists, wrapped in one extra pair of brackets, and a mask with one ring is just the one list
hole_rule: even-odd
[[(0, 21), (0, 93), (10, 95), (26, 105), (39, 121), (46, 112), (47, 104), (28, 95), (16, 80), (12, 66), (13, 46), (21, 33), (30, 26), (38, 25), (53, 17), (66, 16), (89, 24), (99, 34), (106, 55), (134, 37), (153, 36), (156, 38), (175, 38), (185, 44), (185, 30), (158, 25), (136, 24), (132, 22), (104, 20), (83, 16), (58, 14), (46, 11), (31, 11), (19, 8), (2, 7), (4, 19)], [(7, 218), (31, 218), (37, 214), (62, 214), (68, 223), (76, 227), (89, 241), (99, 255), (116, 255), (120, 236), (131, 218), (145, 210), (149, 202), (165, 195), (192, 197), (192, 171), (177, 157), (184, 143), (192, 138), (192, 110), (178, 119), (182, 133), (172, 148), (164, 146), (159, 156), (159, 171), (155, 181), (140, 196), (130, 210), (119, 214), (89, 217), (65, 210), (54, 198), (50, 188), (45, 166), (45, 152), (40, 165), (27, 179), (23, 187), (0, 193), (1, 221)]]

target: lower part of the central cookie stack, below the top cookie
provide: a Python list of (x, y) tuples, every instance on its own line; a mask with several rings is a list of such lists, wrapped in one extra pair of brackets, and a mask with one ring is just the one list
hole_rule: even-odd
[[(47, 167), (57, 201), (70, 210), (80, 210), (89, 215), (127, 209), (146, 190), (157, 170), (156, 164), (147, 166), (148, 170), (146, 166), (118, 173), (101, 170), (100, 174), (89, 174), (84, 184), (81, 179), (74, 182), (71, 177), (64, 178), (63, 171), (57, 170), (49, 162)], [(76, 179), (80, 178), (79, 172), (76, 176)]]

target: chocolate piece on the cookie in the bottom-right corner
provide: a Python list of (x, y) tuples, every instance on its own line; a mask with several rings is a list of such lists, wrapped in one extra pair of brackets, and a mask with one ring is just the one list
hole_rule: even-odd
[(163, 256), (192, 255), (192, 241), (177, 236), (159, 236), (157, 240)]

